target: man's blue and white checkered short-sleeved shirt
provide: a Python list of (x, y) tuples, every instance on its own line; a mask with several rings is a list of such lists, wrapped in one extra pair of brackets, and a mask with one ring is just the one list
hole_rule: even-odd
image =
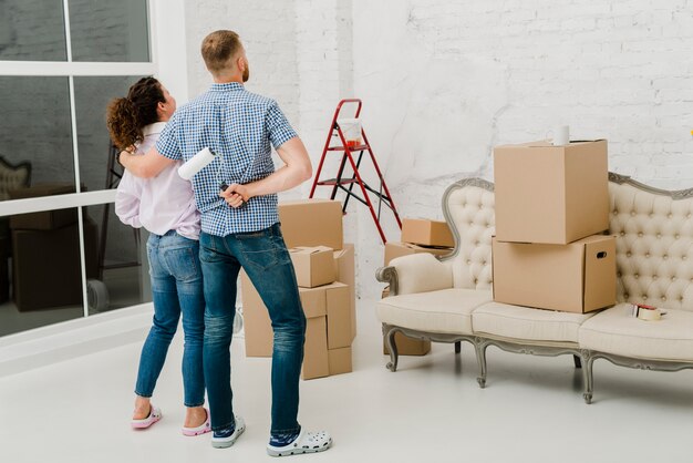
[(279, 222), (276, 194), (256, 196), (232, 208), (219, 196), (219, 185), (247, 184), (272, 174), (270, 144), (277, 148), (294, 136), (276, 101), (250, 93), (240, 83), (215, 83), (175, 112), (156, 150), (183, 161), (205, 147), (220, 155), (193, 177), (193, 188), (203, 232), (226, 236)]

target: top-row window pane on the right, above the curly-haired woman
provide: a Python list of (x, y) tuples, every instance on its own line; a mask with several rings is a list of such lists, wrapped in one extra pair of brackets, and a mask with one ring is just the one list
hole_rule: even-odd
[(73, 61), (147, 62), (146, 0), (70, 0)]

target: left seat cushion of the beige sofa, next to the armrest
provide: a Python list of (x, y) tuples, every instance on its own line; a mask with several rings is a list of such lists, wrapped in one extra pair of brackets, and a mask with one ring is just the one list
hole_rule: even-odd
[(472, 335), (472, 311), (493, 299), (490, 291), (442, 289), (380, 300), (380, 321), (420, 331)]

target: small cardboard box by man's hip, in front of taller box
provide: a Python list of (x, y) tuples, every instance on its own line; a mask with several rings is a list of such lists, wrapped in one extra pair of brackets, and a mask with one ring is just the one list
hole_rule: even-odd
[(300, 287), (329, 285), (337, 277), (334, 251), (327, 246), (300, 246), (289, 249), (296, 279)]

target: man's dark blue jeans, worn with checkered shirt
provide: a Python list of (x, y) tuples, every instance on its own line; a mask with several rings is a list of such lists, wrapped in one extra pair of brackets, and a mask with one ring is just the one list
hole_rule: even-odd
[(203, 233), (199, 257), (207, 302), (204, 358), (211, 428), (220, 430), (234, 424), (229, 346), (236, 280), (242, 267), (265, 301), (275, 330), (271, 433), (298, 432), (306, 316), (279, 224), (225, 237)]

